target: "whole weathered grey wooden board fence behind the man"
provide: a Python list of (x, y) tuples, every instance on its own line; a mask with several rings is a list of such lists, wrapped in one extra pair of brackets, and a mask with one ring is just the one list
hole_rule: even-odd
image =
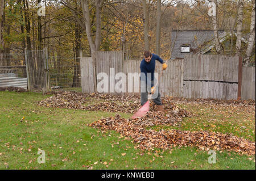
[[(82, 92), (95, 92), (98, 73), (106, 73), (110, 79), (110, 68), (115, 73), (140, 73), (141, 60), (122, 61), (121, 52), (97, 52), (96, 72), (90, 57), (81, 57)], [(184, 60), (166, 61), (168, 68), (162, 72), (162, 65), (156, 61), (155, 71), (159, 73), (159, 90), (162, 96), (183, 98), (237, 99), (238, 57), (222, 55), (188, 55)], [(255, 100), (255, 68), (243, 68), (241, 99)], [(128, 90), (126, 79), (126, 92)], [(116, 83), (117, 81), (115, 81)], [(140, 81), (139, 81), (140, 82)], [(109, 84), (109, 87), (113, 85)], [(136, 90), (138, 87), (134, 87)], [(140, 85), (139, 85), (140, 92)], [(112, 93), (133, 94), (133, 93)], [(138, 93), (135, 93), (138, 94)]]

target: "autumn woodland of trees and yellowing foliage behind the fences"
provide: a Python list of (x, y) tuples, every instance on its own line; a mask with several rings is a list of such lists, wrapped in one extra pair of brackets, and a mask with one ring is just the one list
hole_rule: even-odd
[[(238, 36), (229, 37), (229, 47), (216, 46), (216, 53), (255, 61), (255, 1), (215, 1), (216, 19), (207, 13), (209, 1), (201, 0), (0, 2), (0, 53), (48, 48), (50, 56), (79, 57), (79, 49), (87, 56), (96, 50), (123, 50), (126, 58), (139, 59), (150, 49), (168, 60), (172, 30), (225, 30)], [(46, 16), (38, 16), (39, 3), (46, 7)], [(250, 38), (252, 45), (241, 37)]]

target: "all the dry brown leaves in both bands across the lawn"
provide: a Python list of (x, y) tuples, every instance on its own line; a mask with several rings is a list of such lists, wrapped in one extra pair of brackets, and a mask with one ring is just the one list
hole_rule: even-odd
[[(90, 98), (93, 100), (104, 100), (98, 104), (83, 106)], [(154, 125), (177, 125), (182, 117), (191, 116), (191, 113), (182, 110), (175, 104), (208, 104), (216, 106), (233, 107), (255, 107), (255, 101), (249, 100), (216, 100), (216, 99), (194, 99), (164, 98), (164, 107), (168, 110), (166, 115), (155, 111), (155, 105), (151, 103), (150, 111), (147, 115), (137, 119), (124, 119), (119, 115), (110, 118), (103, 118), (88, 124), (93, 128), (114, 130), (123, 136), (133, 138), (138, 143), (140, 149), (170, 149), (176, 146), (197, 146), (203, 150), (233, 150), (242, 154), (255, 154), (255, 142), (233, 136), (209, 131), (191, 132), (179, 130), (147, 130), (146, 127)], [(63, 107), (91, 111), (109, 111), (135, 113), (141, 106), (139, 96), (114, 96), (103, 94), (82, 94), (77, 92), (57, 92), (55, 95), (39, 102), (41, 106)], [(252, 108), (255, 112), (255, 108)]]

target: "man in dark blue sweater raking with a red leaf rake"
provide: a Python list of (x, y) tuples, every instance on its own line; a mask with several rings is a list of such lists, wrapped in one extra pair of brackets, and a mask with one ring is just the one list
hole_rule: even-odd
[[(141, 61), (141, 105), (142, 107), (131, 117), (142, 117), (149, 110), (150, 103), (148, 101), (148, 92), (150, 92), (150, 97), (156, 104), (158, 111), (166, 112), (163, 108), (161, 101), (161, 95), (158, 89), (158, 80), (154, 80), (155, 72), (155, 61), (158, 60), (162, 65), (163, 69), (166, 70), (167, 64), (158, 55), (151, 53), (150, 51), (144, 52), (144, 58)], [(154, 85), (154, 82), (155, 85)]]

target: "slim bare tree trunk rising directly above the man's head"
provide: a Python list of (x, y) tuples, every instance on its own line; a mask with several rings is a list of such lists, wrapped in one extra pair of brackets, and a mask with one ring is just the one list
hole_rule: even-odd
[(150, 50), (148, 42), (148, 5), (147, 0), (142, 0), (143, 3), (143, 24), (144, 24), (144, 50)]

